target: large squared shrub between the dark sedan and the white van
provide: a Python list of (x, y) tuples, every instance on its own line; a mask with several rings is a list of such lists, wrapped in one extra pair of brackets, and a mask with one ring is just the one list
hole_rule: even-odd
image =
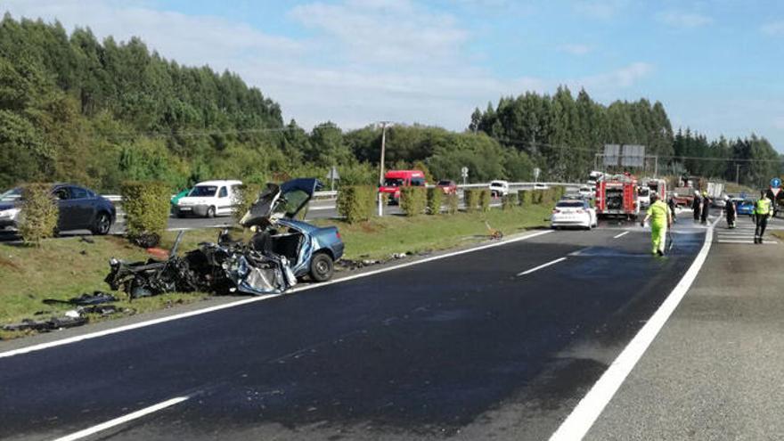
[(120, 184), (120, 195), (128, 238), (139, 245), (155, 246), (168, 223), (171, 198), (168, 185), (158, 181), (126, 181)]

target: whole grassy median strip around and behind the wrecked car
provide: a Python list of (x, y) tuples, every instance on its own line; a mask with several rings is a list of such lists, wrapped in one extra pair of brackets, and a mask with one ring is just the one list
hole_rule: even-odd
[[(320, 220), (318, 225), (337, 225), (346, 243), (345, 257), (350, 259), (385, 259), (393, 253), (449, 249), (456, 246), (486, 241), (488, 222), (505, 235), (527, 228), (546, 225), (543, 220), (550, 210), (543, 207), (493, 209), (487, 213), (459, 213), (438, 216), (385, 216), (356, 225), (335, 220)], [(181, 251), (198, 247), (202, 241), (216, 241), (217, 229), (192, 230), (184, 234)], [(234, 232), (247, 239), (248, 233)], [(176, 233), (166, 233), (161, 248), (168, 249)], [(144, 260), (150, 255), (130, 245), (121, 237), (90, 237), (94, 243), (79, 237), (49, 239), (40, 247), (9, 243), (0, 244), (0, 326), (18, 323), (24, 318), (44, 319), (62, 314), (72, 306), (48, 306), (44, 298), (67, 299), (84, 292), (109, 290), (103, 282), (109, 273), (109, 259)], [(129, 301), (122, 292), (115, 293), (119, 307), (131, 308), (134, 314), (153, 311), (180, 303), (191, 303), (207, 298), (205, 293), (166, 294)], [(45, 314), (33, 314), (43, 311)], [(120, 314), (111, 317), (122, 316)], [(107, 317), (90, 317), (92, 322)], [(0, 338), (11, 339), (24, 332), (0, 330)]]

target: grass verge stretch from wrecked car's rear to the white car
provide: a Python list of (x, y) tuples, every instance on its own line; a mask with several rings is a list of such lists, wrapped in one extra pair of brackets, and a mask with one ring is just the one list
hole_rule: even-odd
[(487, 221), (505, 235), (547, 225), (543, 219), (550, 209), (533, 206), (511, 210), (492, 209), (487, 213), (458, 213), (437, 216), (384, 216), (348, 225), (335, 220), (319, 220), (317, 225), (337, 225), (346, 244), (346, 258), (383, 259), (393, 253), (449, 249), (485, 241)]

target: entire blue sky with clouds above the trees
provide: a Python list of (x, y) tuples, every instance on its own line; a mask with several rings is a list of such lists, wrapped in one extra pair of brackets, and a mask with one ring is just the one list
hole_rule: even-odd
[(3, 0), (14, 18), (141, 37), (237, 72), (302, 127), (463, 130), (476, 108), (581, 87), (664, 103), (673, 126), (784, 151), (784, 2), (763, 0)]

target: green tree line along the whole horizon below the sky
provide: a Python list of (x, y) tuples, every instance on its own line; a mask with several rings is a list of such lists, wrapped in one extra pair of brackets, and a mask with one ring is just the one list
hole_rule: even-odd
[[(282, 119), (280, 104), (236, 74), (188, 67), (151, 51), (141, 39), (99, 41), (90, 29), (59, 22), (0, 21), (0, 188), (70, 181), (114, 192), (128, 179), (162, 180), (173, 189), (212, 178), (262, 184), (326, 175), (342, 184), (378, 180), (381, 132), (344, 131), (324, 122), (310, 131)], [(764, 138), (707, 141), (674, 134), (664, 106), (647, 100), (594, 102), (567, 87), (555, 94), (502, 97), (475, 110), (468, 128), (394, 126), (388, 167), (419, 167), (431, 181), (506, 178), (581, 180), (604, 143), (640, 143), (662, 167), (734, 178), (770, 174), (778, 154)], [(750, 160), (748, 160), (750, 159)], [(759, 163), (757, 159), (770, 162)], [(730, 176), (731, 175), (731, 176)]]

